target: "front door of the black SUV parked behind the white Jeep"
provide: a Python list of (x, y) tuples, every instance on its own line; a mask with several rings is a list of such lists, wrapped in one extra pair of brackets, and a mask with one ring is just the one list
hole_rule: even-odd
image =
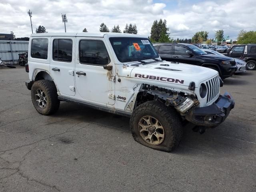
[(194, 56), (187, 55), (187, 52), (191, 51), (186, 46), (174, 45), (173, 61), (196, 65), (197, 60)]

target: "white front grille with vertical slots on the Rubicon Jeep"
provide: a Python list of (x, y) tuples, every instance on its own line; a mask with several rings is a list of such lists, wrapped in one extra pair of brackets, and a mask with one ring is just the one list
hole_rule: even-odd
[(206, 103), (212, 102), (216, 97), (220, 94), (220, 78), (219, 76), (215, 76), (214, 78), (206, 81), (207, 87), (207, 101)]

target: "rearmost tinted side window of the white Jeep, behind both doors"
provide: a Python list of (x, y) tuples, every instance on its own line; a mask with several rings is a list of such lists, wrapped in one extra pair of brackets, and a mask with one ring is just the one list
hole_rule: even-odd
[(33, 39), (31, 43), (31, 57), (47, 59), (48, 39)]

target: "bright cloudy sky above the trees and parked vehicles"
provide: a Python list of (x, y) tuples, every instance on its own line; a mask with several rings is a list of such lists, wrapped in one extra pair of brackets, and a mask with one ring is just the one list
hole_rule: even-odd
[(154, 20), (167, 20), (170, 36), (192, 38), (197, 31), (216, 30), (235, 40), (241, 29), (256, 30), (256, 0), (1, 0), (0, 33), (13, 31), (16, 37), (29, 37), (32, 11), (33, 31), (43, 25), (48, 32), (99, 32), (104, 22), (111, 30), (126, 23), (136, 24), (138, 34), (150, 36)]

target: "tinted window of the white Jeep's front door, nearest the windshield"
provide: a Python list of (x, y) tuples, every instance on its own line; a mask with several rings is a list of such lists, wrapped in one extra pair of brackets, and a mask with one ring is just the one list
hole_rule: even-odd
[(100, 40), (81, 40), (79, 60), (82, 64), (106, 65), (110, 63), (106, 46)]

